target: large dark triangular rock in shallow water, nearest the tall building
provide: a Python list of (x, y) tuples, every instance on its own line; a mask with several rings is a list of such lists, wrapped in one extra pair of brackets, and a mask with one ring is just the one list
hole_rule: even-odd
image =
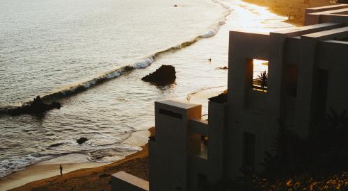
[(159, 69), (141, 78), (141, 80), (155, 83), (171, 83), (175, 81), (175, 78), (175, 67), (171, 65), (161, 65)]

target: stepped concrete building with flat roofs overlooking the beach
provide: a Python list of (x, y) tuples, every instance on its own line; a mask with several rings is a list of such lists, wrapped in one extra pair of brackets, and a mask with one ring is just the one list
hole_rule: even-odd
[[(306, 137), (328, 108), (348, 108), (348, 5), (307, 9), (305, 23), (269, 34), (230, 31), (228, 96), (210, 99), (208, 121), (200, 105), (155, 102), (151, 191), (219, 190), (243, 166), (262, 170), (280, 124)], [(253, 59), (268, 61), (266, 91), (253, 85)]]

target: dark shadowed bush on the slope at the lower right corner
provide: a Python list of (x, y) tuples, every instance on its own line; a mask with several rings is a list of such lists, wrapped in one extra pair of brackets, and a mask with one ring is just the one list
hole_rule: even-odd
[[(251, 190), (348, 190), (347, 110), (313, 123), (307, 138), (280, 129), (274, 149), (266, 151), (264, 171), (242, 169), (239, 180)], [(276, 153), (276, 154), (272, 154)], [(238, 181), (235, 181), (238, 183)], [(244, 189), (246, 190), (246, 189)]]

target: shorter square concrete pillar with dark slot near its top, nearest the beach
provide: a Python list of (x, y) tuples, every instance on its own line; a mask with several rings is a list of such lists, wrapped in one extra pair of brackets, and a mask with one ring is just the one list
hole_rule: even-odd
[(189, 120), (201, 106), (174, 100), (155, 102), (155, 140), (150, 140), (150, 190), (188, 190)]

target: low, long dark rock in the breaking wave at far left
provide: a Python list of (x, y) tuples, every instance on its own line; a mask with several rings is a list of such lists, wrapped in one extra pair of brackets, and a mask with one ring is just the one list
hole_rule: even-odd
[(52, 102), (51, 104), (46, 104), (42, 101), (41, 97), (38, 96), (34, 98), (33, 102), (29, 103), (28, 105), (10, 109), (8, 110), (8, 113), (10, 115), (21, 115), (25, 113), (37, 114), (37, 113), (45, 112), (47, 110), (60, 109), (60, 108), (61, 108), (61, 103)]

